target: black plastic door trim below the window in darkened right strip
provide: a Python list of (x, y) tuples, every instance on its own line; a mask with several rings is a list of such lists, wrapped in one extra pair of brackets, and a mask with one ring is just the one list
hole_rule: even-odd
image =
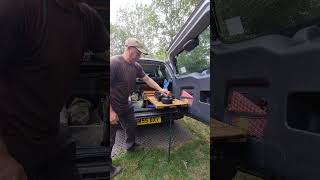
[[(262, 149), (260, 154), (243, 157), (245, 163), (258, 164), (262, 167), (256, 168), (286, 179), (317, 179), (320, 175), (320, 136), (314, 133), (318, 132), (319, 119), (318, 30), (306, 29), (307, 34), (313, 32), (312, 36), (302, 36), (301, 30), (292, 38), (269, 35), (237, 44), (218, 44), (212, 49), (212, 117), (225, 119), (228, 82), (267, 82), (261, 83), (267, 89), (262, 95), (268, 100), (269, 109), (264, 140), (259, 145), (248, 144), (249, 149)], [(249, 96), (259, 93), (252, 87)]]

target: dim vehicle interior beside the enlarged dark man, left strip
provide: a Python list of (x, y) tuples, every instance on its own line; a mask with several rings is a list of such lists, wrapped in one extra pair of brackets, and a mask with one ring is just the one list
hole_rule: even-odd
[[(97, 10), (108, 27), (109, 2), (84, 2)], [(107, 61), (96, 58), (91, 52), (85, 53), (72, 96), (60, 113), (61, 125), (68, 129), (75, 140), (75, 159), (83, 180), (109, 179), (108, 112), (105, 111), (108, 68)], [(76, 110), (79, 108), (81, 111)]]

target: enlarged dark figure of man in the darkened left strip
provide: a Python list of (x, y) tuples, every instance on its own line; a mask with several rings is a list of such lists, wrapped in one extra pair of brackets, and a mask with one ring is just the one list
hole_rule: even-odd
[(107, 47), (101, 18), (84, 3), (0, 1), (1, 180), (80, 180), (59, 112), (84, 51)]

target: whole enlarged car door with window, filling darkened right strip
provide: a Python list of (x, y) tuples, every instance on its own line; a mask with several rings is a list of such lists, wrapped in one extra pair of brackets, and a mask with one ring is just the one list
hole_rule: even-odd
[(214, 2), (214, 118), (248, 130), (241, 154), (248, 166), (317, 179), (319, 3)]

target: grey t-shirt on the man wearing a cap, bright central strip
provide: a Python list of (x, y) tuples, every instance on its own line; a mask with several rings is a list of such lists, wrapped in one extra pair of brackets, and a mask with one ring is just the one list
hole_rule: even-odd
[(116, 113), (129, 110), (128, 98), (133, 93), (136, 78), (143, 78), (145, 73), (137, 62), (130, 64), (123, 56), (113, 56), (110, 59), (110, 102)]

